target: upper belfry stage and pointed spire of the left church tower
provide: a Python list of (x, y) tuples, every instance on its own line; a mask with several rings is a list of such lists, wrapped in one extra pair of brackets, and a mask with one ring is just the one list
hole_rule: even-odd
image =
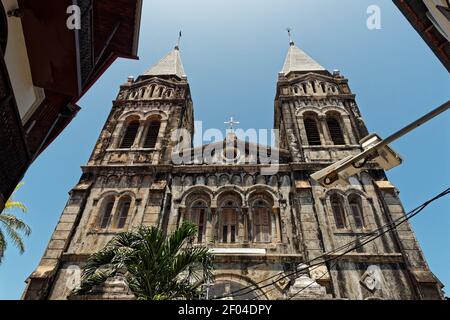
[(173, 130), (193, 135), (193, 105), (177, 45), (120, 87), (89, 164), (167, 164)]

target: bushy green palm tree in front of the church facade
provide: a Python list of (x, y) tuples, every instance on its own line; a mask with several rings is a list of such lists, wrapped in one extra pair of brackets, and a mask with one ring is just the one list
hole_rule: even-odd
[(88, 294), (108, 278), (123, 276), (139, 300), (194, 299), (202, 277), (211, 276), (208, 248), (192, 246), (197, 227), (185, 222), (172, 235), (156, 227), (141, 226), (115, 236), (88, 259), (80, 288)]

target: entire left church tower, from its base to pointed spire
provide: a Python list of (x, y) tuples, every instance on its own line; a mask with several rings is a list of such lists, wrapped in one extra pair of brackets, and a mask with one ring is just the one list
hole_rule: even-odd
[[(70, 284), (89, 254), (117, 233), (164, 224), (171, 201), (171, 135), (181, 128), (192, 134), (193, 118), (178, 45), (144, 74), (128, 78), (23, 299), (76, 299)], [(90, 299), (129, 299), (122, 289), (108, 282)]]

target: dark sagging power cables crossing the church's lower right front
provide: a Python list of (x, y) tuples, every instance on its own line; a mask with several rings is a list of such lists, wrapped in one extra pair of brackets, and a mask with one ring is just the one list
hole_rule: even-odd
[[(345, 252), (343, 252), (343, 253), (337, 255), (336, 257), (332, 257), (332, 258), (325, 259), (324, 261), (321, 261), (321, 262), (319, 262), (319, 263), (315, 263), (315, 264), (309, 265), (308, 267), (305, 267), (305, 268), (303, 268), (303, 269), (300, 269), (300, 270), (297, 270), (297, 271), (295, 271), (295, 272), (289, 273), (289, 274), (283, 276), (282, 278), (277, 279), (277, 281), (280, 281), (280, 280), (282, 280), (282, 279), (286, 279), (286, 278), (288, 278), (288, 277), (291, 277), (292, 275), (295, 275), (295, 274), (297, 274), (298, 272), (301, 272), (301, 271), (304, 271), (304, 270), (309, 270), (311, 267), (316, 267), (316, 268), (318, 268), (319, 266), (321, 266), (321, 265), (323, 265), (323, 264), (325, 264), (325, 263), (327, 263), (327, 262), (330, 262), (330, 261), (337, 260), (337, 259), (341, 258), (342, 256), (348, 254), (349, 252), (354, 251), (354, 250), (356, 250), (356, 249), (358, 249), (358, 248), (360, 248), (360, 247), (366, 245), (367, 243), (372, 242), (372, 241), (378, 239), (378, 238), (381, 237), (382, 235), (384, 235), (384, 234), (386, 234), (387, 232), (389, 232), (389, 231), (395, 229), (396, 227), (398, 227), (400, 224), (402, 224), (402, 223), (404, 223), (404, 222), (406, 222), (406, 221), (412, 219), (414, 216), (416, 216), (417, 214), (419, 214), (423, 209), (425, 209), (430, 203), (432, 203), (432, 202), (438, 200), (438, 199), (441, 198), (441, 197), (446, 196), (446, 195), (449, 194), (449, 193), (450, 193), (450, 188), (448, 188), (448, 189), (446, 189), (445, 191), (441, 192), (440, 194), (438, 194), (438, 195), (435, 196), (434, 198), (432, 198), (432, 199), (430, 199), (430, 200), (424, 202), (423, 204), (421, 204), (420, 206), (418, 206), (418, 207), (415, 208), (414, 210), (412, 210), (412, 211), (410, 211), (409, 213), (405, 214), (404, 217), (400, 217), (400, 218), (394, 220), (393, 222), (391, 222), (391, 223), (389, 223), (389, 224), (386, 224), (386, 225), (384, 225), (384, 226), (382, 226), (382, 227), (380, 227), (380, 228), (374, 230), (373, 232), (371, 232), (371, 233), (369, 233), (369, 234), (359, 236), (359, 237), (357, 237), (355, 240), (353, 240), (353, 241), (351, 241), (351, 242), (349, 242), (349, 243), (347, 243), (347, 244), (345, 244), (345, 245), (343, 245), (343, 246), (341, 246), (341, 247), (339, 247), (339, 248), (337, 248), (337, 249), (334, 249), (334, 250), (331, 250), (331, 251), (329, 251), (329, 252), (326, 252), (326, 253), (324, 253), (324, 254), (322, 254), (322, 255), (320, 255), (320, 256), (318, 256), (318, 257), (312, 259), (312, 260), (306, 261), (306, 263), (310, 264), (311, 262), (313, 262), (313, 261), (315, 261), (315, 260), (318, 260), (318, 259), (320, 259), (320, 258), (329, 256), (330, 254), (332, 254), (332, 253), (334, 253), (334, 252), (337, 252), (337, 251), (341, 250), (342, 248), (348, 247), (349, 245), (351, 245), (351, 244), (353, 244), (353, 243), (355, 243), (355, 242), (359, 242), (361, 239), (364, 239), (364, 238), (366, 238), (366, 237), (368, 237), (368, 236), (371, 236), (371, 235), (373, 235), (373, 234), (376, 234), (378, 231), (384, 229), (385, 227), (389, 227), (387, 230), (381, 232), (380, 234), (374, 236), (373, 238), (368, 239), (367, 241), (365, 241), (365, 242), (363, 242), (363, 243), (359, 243), (357, 246), (355, 246), (355, 247), (353, 247), (353, 248), (351, 248), (351, 249), (349, 249), (349, 250), (347, 250), (347, 251), (345, 251)], [(399, 222), (399, 221), (400, 221), (400, 222)], [(397, 222), (398, 222), (398, 223), (397, 223)], [(314, 269), (316, 269), (316, 268), (314, 268)], [(311, 270), (314, 270), (314, 269), (311, 269)], [(270, 280), (270, 279), (273, 279), (273, 278), (275, 278), (275, 277), (277, 277), (277, 276), (279, 276), (279, 275), (282, 275), (282, 274), (283, 274), (283, 273), (280, 272), (280, 273), (275, 274), (275, 275), (273, 275), (273, 276), (271, 276), (271, 277), (269, 277), (269, 278), (263, 279), (263, 280), (257, 282), (257, 283), (254, 284), (254, 285), (250, 285), (250, 286), (247, 286), (247, 287), (245, 287), (245, 288), (236, 290), (236, 291), (234, 291), (234, 292), (232, 292), (232, 293), (230, 293), (230, 294), (228, 294), (228, 295), (224, 295), (224, 296), (222, 296), (222, 297), (220, 297), (220, 298), (216, 298), (216, 299), (223, 299), (223, 298), (235, 297), (235, 296), (238, 296), (238, 297), (239, 297), (239, 296), (247, 295), (247, 294), (249, 294), (249, 293), (251, 293), (251, 292), (254, 292), (254, 291), (256, 291), (256, 290), (264, 289), (264, 288), (266, 288), (266, 287), (268, 287), (268, 286), (270, 286), (270, 285), (273, 285), (273, 282), (272, 282), (272, 283), (269, 283), (269, 284), (266, 284), (266, 285), (264, 285), (264, 286), (261, 286), (261, 287), (258, 286), (258, 285), (261, 284), (261, 283), (263, 283), (263, 282), (266, 282), (266, 281), (268, 281), (268, 280)], [(256, 286), (256, 288), (253, 288), (254, 286)], [(237, 294), (237, 293), (239, 293), (239, 292), (248, 290), (248, 289), (250, 289), (250, 288), (252, 288), (252, 289), (249, 290), (249, 291), (247, 291), (247, 292)], [(305, 288), (304, 288), (304, 289), (305, 289)], [(304, 290), (304, 289), (303, 289), (303, 290)], [(297, 294), (298, 294), (298, 293), (297, 293)]]

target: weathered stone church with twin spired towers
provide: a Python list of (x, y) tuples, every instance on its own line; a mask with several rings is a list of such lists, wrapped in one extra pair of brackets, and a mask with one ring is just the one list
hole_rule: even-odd
[[(263, 156), (251, 152), (261, 146), (240, 141), (233, 131), (224, 141), (232, 156), (213, 153), (207, 164), (195, 154), (211, 146), (191, 143), (183, 153), (188, 157), (174, 163), (179, 150), (173, 132), (194, 131), (179, 48), (130, 77), (23, 298), (132, 299), (120, 279), (85, 297), (74, 297), (70, 284), (89, 255), (115, 234), (141, 224), (170, 233), (188, 219), (198, 226), (195, 242), (215, 254), (210, 298), (251, 288), (233, 298), (442, 299), (442, 284), (408, 222), (332, 260), (341, 247), (358, 244), (405, 211), (375, 162), (338, 188), (325, 189), (309, 178), (359, 153), (368, 130), (348, 79), (294, 42), (278, 74), (274, 128), (278, 148), (267, 154), (278, 154), (278, 169), (270, 175)], [(328, 262), (314, 264), (321, 259)]]

